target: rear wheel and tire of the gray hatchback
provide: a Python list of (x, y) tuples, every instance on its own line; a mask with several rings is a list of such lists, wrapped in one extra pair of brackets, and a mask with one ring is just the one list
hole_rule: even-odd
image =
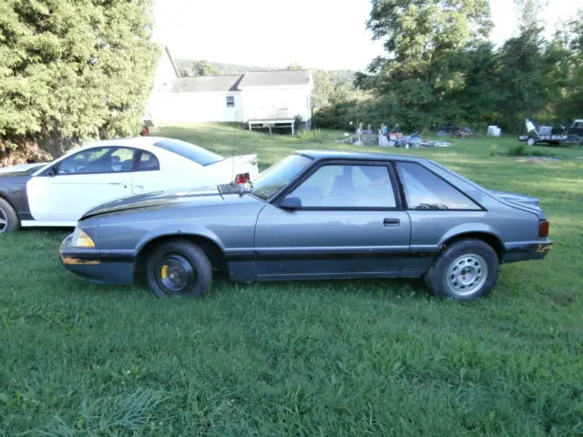
[(462, 239), (441, 253), (424, 279), (435, 296), (473, 300), (485, 297), (494, 288), (499, 264), (489, 244), (480, 239)]

